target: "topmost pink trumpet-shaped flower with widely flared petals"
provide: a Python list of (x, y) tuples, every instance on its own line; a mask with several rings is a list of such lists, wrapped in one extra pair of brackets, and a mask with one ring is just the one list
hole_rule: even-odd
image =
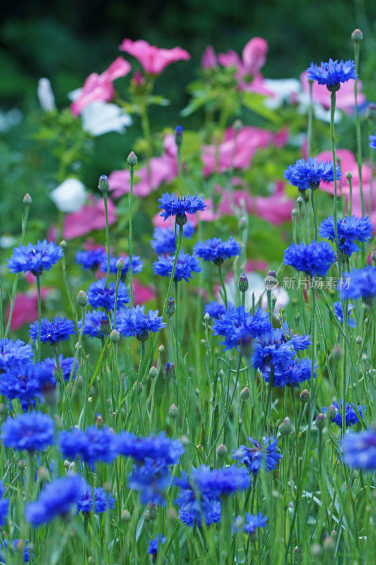
[(147, 41), (132, 41), (125, 39), (119, 46), (121, 51), (133, 55), (145, 70), (145, 73), (159, 75), (171, 63), (176, 61), (188, 61), (190, 54), (181, 47), (174, 49), (159, 49), (155, 45), (150, 45)]

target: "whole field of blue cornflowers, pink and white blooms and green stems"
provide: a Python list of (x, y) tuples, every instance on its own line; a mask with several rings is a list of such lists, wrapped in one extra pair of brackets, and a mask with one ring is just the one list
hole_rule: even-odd
[(4, 165), (1, 563), (375, 563), (362, 42), (286, 80), (262, 37), (208, 46), (162, 129), (182, 47), (126, 38), (61, 107), (35, 85)]

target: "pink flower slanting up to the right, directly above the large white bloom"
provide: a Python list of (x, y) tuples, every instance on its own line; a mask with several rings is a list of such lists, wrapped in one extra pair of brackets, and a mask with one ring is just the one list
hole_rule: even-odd
[(71, 111), (73, 116), (78, 116), (85, 107), (95, 100), (109, 102), (115, 95), (114, 81), (116, 78), (126, 76), (131, 71), (131, 65), (118, 57), (109, 68), (101, 75), (91, 73), (83, 85), (79, 97), (72, 102)]

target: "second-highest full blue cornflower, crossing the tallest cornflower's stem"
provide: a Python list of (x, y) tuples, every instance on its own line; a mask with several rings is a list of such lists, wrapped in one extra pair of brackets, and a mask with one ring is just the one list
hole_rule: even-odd
[[(320, 182), (329, 184), (334, 181), (332, 161), (319, 161), (318, 157), (308, 160), (298, 159), (295, 165), (289, 165), (284, 172), (284, 178), (299, 190), (317, 189)], [(341, 179), (341, 169), (336, 165), (336, 178)]]

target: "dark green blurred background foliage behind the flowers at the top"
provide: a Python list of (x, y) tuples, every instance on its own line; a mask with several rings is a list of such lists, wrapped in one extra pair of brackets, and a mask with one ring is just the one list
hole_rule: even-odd
[[(159, 47), (180, 45), (190, 52), (188, 62), (169, 66), (156, 83), (156, 93), (171, 99), (166, 108), (153, 107), (154, 130), (181, 121), (178, 112), (188, 102), (186, 87), (196, 77), (207, 44), (216, 52), (241, 52), (253, 36), (269, 44), (268, 78), (298, 75), (311, 60), (353, 57), (351, 32), (365, 34), (361, 52), (363, 91), (373, 100), (376, 77), (376, 2), (370, 0), (18, 0), (1, 2), (0, 110), (16, 109), (15, 124), (0, 131), (1, 232), (19, 229), (15, 198), (33, 193), (43, 214), (56, 209), (46, 198), (46, 179), (55, 182), (53, 164), (34, 141), (38, 122), (37, 82), (51, 81), (59, 108), (68, 105), (67, 93), (85, 78), (101, 73), (120, 52), (124, 37), (142, 38)], [(133, 69), (137, 61), (126, 56)], [(18, 112), (18, 113), (17, 113)], [(200, 127), (200, 112), (184, 121), (185, 129)], [(3, 120), (4, 122), (4, 120)], [(1, 126), (1, 119), (0, 119)], [(4, 123), (3, 123), (4, 126)], [(1, 127), (0, 127), (1, 129)], [(95, 162), (83, 173), (95, 189), (102, 172), (119, 168), (140, 136), (138, 119), (125, 136), (109, 133), (96, 140)], [(44, 169), (44, 173), (42, 170)], [(49, 171), (50, 178), (46, 171)]]

